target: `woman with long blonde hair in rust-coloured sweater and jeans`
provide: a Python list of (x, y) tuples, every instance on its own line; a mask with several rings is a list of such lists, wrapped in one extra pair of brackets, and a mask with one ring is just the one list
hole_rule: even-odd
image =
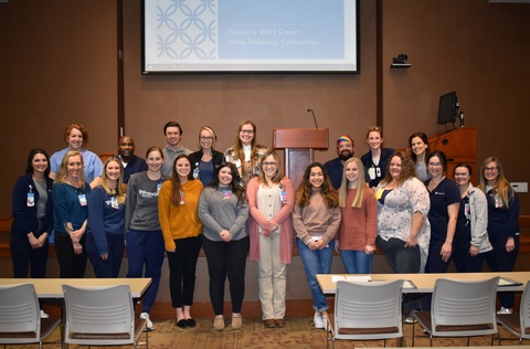
[(339, 205), (342, 220), (335, 248), (340, 252), (346, 273), (370, 274), (378, 235), (378, 201), (365, 186), (364, 167), (359, 158), (344, 163)]

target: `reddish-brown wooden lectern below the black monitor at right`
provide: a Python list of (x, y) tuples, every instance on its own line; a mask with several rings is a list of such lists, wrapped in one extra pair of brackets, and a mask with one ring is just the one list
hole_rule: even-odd
[(442, 150), (447, 158), (447, 178), (453, 178), (455, 167), (460, 162), (471, 166), (474, 184), (478, 182), (480, 173), (477, 172), (477, 129), (475, 127), (460, 127), (448, 133), (435, 134), (428, 137), (431, 151)]

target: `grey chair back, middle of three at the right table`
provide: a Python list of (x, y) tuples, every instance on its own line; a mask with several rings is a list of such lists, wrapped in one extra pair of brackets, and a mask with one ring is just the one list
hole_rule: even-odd
[[(499, 277), (487, 281), (455, 281), (438, 278), (434, 285), (431, 320), (433, 336), (438, 336), (438, 326), (487, 325), (488, 329), (474, 335), (497, 332), (495, 297)], [(489, 331), (488, 331), (489, 330)], [(462, 329), (458, 332), (462, 335)], [(449, 336), (451, 330), (444, 330)], [(473, 332), (473, 330), (470, 330)]]

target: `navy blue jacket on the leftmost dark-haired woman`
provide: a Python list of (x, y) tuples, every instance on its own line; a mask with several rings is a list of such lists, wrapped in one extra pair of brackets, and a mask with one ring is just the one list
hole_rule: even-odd
[[(30, 187), (31, 186), (31, 187)], [(53, 229), (53, 198), (52, 198), (52, 188), (53, 180), (46, 178), (46, 191), (47, 191), (47, 202), (46, 202), (46, 213), (41, 220), (42, 230), (44, 233), (52, 233)], [(28, 207), (28, 193), (34, 193), (34, 205)], [(13, 213), (13, 224), (11, 225), (12, 234), (24, 234), (28, 235), (31, 232), (35, 232), (38, 226), (36, 219), (36, 208), (39, 202), (39, 191), (36, 190), (35, 182), (31, 174), (22, 176), (17, 180), (17, 183), (13, 188), (12, 197), (12, 213)], [(36, 236), (35, 236), (36, 237)]]

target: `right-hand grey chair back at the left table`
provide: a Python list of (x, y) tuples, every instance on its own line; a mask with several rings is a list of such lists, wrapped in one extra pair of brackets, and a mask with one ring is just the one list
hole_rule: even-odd
[[(128, 285), (63, 285), (64, 340), (77, 345), (127, 345), (135, 341), (135, 313)], [(116, 336), (117, 335), (117, 336)]]

